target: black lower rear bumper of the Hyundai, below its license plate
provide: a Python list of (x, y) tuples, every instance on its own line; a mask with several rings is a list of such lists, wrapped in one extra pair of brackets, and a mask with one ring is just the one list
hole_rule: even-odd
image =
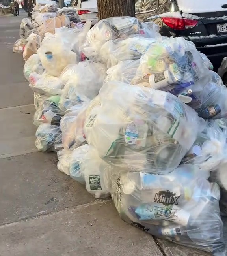
[(198, 51), (207, 55), (208, 59), (214, 66), (214, 71), (217, 71), (221, 66), (221, 61), (227, 56), (227, 45), (216, 45), (209, 47), (196, 47)]

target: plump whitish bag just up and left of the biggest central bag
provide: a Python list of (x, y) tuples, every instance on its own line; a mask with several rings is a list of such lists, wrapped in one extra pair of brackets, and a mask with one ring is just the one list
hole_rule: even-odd
[(91, 60), (79, 62), (71, 71), (71, 79), (66, 83), (59, 102), (60, 109), (65, 111), (95, 98), (106, 77), (105, 65)]

